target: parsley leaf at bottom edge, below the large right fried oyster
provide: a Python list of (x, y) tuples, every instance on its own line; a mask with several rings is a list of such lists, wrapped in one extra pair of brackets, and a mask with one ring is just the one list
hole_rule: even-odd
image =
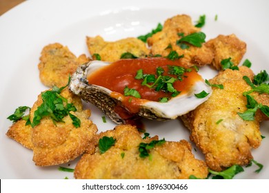
[(241, 167), (241, 165), (232, 165), (227, 170), (223, 170), (222, 172), (215, 172), (213, 170), (208, 169), (208, 172), (217, 175), (212, 177), (212, 179), (232, 179), (236, 174), (243, 171), (244, 170), (243, 167)]

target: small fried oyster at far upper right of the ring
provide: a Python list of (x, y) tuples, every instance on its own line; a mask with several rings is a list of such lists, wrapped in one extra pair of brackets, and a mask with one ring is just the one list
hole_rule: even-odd
[(215, 39), (207, 41), (205, 45), (214, 53), (211, 65), (217, 70), (222, 70), (221, 61), (223, 59), (231, 58), (234, 65), (239, 65), (246, 53), (246, 43), (238, 39), (235, 34), (219, 35)]

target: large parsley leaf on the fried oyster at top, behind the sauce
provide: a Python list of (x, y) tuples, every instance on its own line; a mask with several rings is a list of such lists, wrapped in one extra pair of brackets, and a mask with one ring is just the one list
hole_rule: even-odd
[(177, 45), (181, 47), (181, 43), (190, 43), (190, 45), (201, 48), (204, 42), (206, 42), (206, 34), (203, 32), (195, 32), (181, 37), (181, 39), (177, 40)]

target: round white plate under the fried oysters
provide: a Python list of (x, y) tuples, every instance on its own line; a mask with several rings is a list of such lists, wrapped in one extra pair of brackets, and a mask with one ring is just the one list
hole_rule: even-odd
[[(267, 70), (269, 64), (268, 21), (269, 1), (26, 1), (0, 17), (0, 178), (1, 179), (63, 179), (72, 173), (59, 172), (58, 166), (37, 167), (32, 161), (32, 151), (8, 139), (6, 132), (12, 124), (6, 119), (20, 105), (32, 106), (37, 95), (47, 88), (39, 81), (40, 52), (45, 45), (59, 42), (77, 56), (88, 54), (86, 35), (100, 34), (106, 40), (137, 37), (150, 32), (168, 17), (189, 14), (197, 21), (206, 14), (203, 32), (207, 39), (218, 34), (235, 33), (248, 45), (244, 59), (252, 61), (252, 70), (257, 73)], [(217, 15), (217, 21), (215, 21)], [(243, 60), (244, 60), (243, 59)], [(215, 73), (203, 68), (201, 73), (208, 79)], [(103, 114), (92, 109), (92, 121), (99, 131), (110, 130), (114, 124), (103, 123)], [(188, 130), (179, 121), (165, 123), (146, 121), (151, 136), (159, 134), (167, 141), (187, 139)], [(248, 167), (236, 179), (269, 179), (269, 124), (261, 124), (261, 133), (266, 136), (261, 146), (253, 150), (254, 159), (263, 164), (259, 174), (255, 166)], [(189, 140), (188, 140), (189, 141)], [(201, 155), (197, 154), (198, 158)], [(77, 160), (72, 161), (74, 167)]]

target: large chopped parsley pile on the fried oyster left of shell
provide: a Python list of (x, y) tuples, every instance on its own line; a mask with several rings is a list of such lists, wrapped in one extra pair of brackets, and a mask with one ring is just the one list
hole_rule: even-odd
[(61, 91), (66, 88), (69, 83), (70, 78), (66, 86), (61, 88), (54, 86), (52, 90), (48, 90), (41, 94), (43, 103), (34, 111), (34, 119), (31, 123), (32, 128), (39, 125), (41, 119), (45, 116), (49, 116), (56, 125), (56, 122), (64, 123), (63, 118), (67, 115), (69, 115), (72, 119), (72, 124), (75, 128), (80, 127), (81, 121), (77, 118), (77, 116), (70, 113), (71, 111), (77, 111), (77, 108), (74, 107), (74, 104), (68, 103), (68, 100), (60, 95)]

